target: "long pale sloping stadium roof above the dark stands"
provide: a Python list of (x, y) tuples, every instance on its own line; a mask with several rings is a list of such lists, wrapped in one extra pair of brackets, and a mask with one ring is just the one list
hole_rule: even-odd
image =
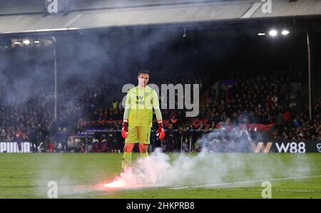
[[(68, 7), (63, 12), (46, 14), (45, 1), (2, 0), (0, 33), (321, 15), (320, 0), (271, 2), (271, 13), (263, 13), (266, 3), (260, 0), (69, 0)], [(60, 9), (61, 5), (59, 6)]]

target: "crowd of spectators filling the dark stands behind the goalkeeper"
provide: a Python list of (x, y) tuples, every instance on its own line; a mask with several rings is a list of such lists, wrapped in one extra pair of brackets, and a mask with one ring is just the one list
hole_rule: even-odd
[[(321, 140), (321, 98), (315, 101), (313, 120), (310, 121), (303, 107), (302, 76), (297, 73), (238, 72), (227, 78), (230, 80), (217, 82), (210, 82), (205, 77), (198, 76), (195, 80), (191, 75), (184, 79), (173, 76), (170, 82), (156, 82), (157, 85), (198, 83), (205, 105), (200, 105), (200, 114), (193, 119), (185, 118), (185, 110), (162, 110), (166, 138), (161, 142), (153, 136), (151, 144), (166, 151), (187, 150), (192, 140), (193, 149), (198, 150), (196, 140), (203, 133), (223, 124), (250, 123), (275, 124), (263, 139)], [(21, 137), (34, 143), (34, 149), (41, 142), (45, 145), (56, 142), (56, 145), (61, 143), (62, 150), (65, 147), (68, 150), (68, 135), (80, 135), (88, 128), (105, 128), (106, 133), (97, 136), (98, 142), (113, 144), (105, 146), (104, 151), (119, 150), (123, 143), (118, 133), (123, 119), (123, 94), (118, 93), (118, 89), (112, 81), (86, 85), (71, 80), (58, 90), (57, 120), (54, 122), (52, 92), (34, 88), (9, 97), (5, 95), (5, 88), (1, 88), (0, 141), (16, 141)], [(183, 142), (182, 147), (180, 142)], [(97, 146), (93, 147), (99, 150)]]

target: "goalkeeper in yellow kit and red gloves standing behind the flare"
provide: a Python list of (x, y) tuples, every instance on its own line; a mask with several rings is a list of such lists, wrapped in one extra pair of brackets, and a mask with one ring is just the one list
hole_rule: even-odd
[(122, 170), (131, 164), (131, 152), (137, 142), (139, 142), (141, 158), (148, 156), (147, 149), (151, 138), (153, 108), (158, 121), (156, 135), (159, 136), (160, 140), (165, 137), (157, 93), (147, 85), (149, 71), (140, 71), (137, 78), (138, 86), (128, 90), (126, 108), (123, 114), (121, 135), (126, 140), (123, 148)]

